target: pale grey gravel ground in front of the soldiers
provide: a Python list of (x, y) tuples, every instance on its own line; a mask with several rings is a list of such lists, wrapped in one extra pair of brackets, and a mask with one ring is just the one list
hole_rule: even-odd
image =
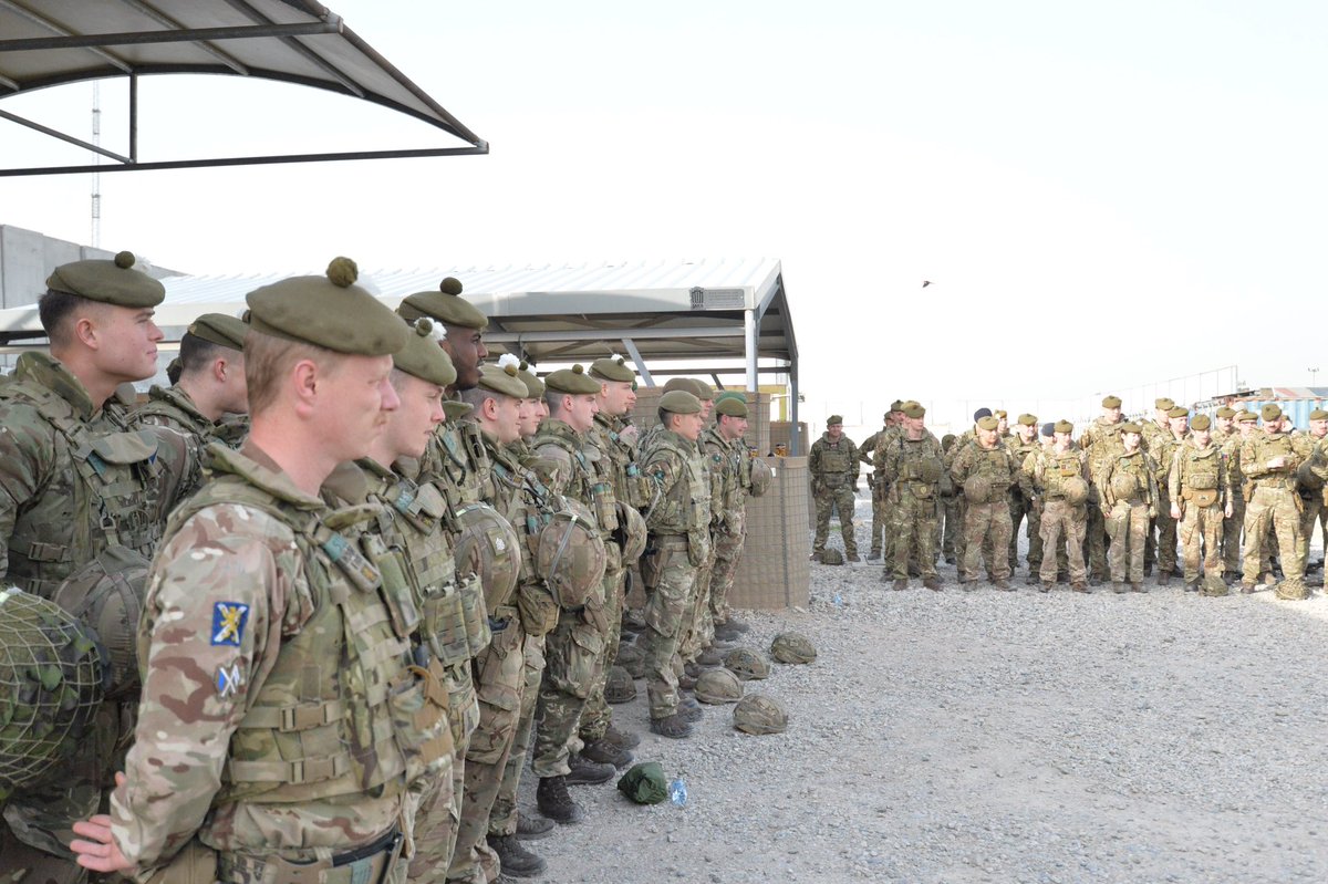
[(587, 820), (530, 843), (543, 880), (1328, 879), (1323, 595), (1041, 595), (1023, 569), (1017, 592), (963, 592), (944, 565), (943, 592), (892, 592), (880, 576), (814, 565), (809, 609), (742, 612), (752, 646), (795, 629), (818, 648), (748, 682), (784, 702), (784, 734), (741, 734), (713, 706), (691, 739), (655, 737), (637, 682), (615, 722), (689, 800), (575, 787)]

